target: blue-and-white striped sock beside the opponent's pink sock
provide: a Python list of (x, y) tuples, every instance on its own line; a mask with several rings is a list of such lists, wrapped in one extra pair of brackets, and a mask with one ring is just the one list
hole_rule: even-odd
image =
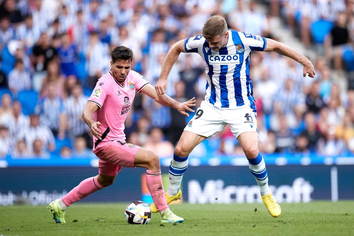
[(169, 179), (170, 186), (167, 190), (169, 196), (174, 196), (177, 194), (179, 187), (181, 186), (182, 177), (188, 168), (188, 156), (180, 157), (173, 153), (173, 159), (170, 163), (169, 169)]

